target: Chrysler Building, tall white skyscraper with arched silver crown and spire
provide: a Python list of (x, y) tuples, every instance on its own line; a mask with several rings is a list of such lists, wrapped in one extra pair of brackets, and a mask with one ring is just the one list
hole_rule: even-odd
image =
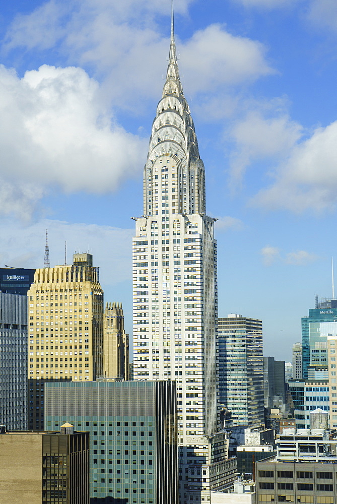
[[(205, 169), (180, 82), (173, 9), (166, 82), (144, 168), (143, 212), (134, 218), (134, 380), (177, 382), (180, 499), (207, 501), (210, 484), (226, 487), (223, 434), (217, 434), (215, 219), (206, 215)], [(193, 474), (199, 484), (190, 483)]]

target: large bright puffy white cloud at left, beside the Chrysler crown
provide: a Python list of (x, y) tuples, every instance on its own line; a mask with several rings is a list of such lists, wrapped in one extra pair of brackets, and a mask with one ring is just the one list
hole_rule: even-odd
[(54, 184), (106, 193), (139, 172), (147, 142), (114, 122), (99, 93), (79, 68), (43, 65), (20, 79), (0, 67), (0, 213), (27, 215)]

